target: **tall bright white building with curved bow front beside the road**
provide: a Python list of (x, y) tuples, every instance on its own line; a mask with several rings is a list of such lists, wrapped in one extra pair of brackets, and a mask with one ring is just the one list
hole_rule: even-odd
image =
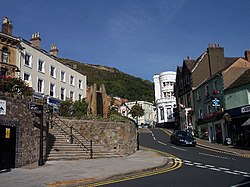
[(176, 99), (174, 96), (174, 84), (176, 72), (166, 71), (159, 75), (154, 75), (155, 105), (157, 124), (174, 124), (174, 109)]

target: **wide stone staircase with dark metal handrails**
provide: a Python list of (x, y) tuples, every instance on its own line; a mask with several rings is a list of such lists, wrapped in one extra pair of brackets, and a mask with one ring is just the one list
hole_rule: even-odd
[[(121, 156), (122, 155), (118, 152), (110, 152), (103, 145), (92, 142), (92, 158)], [(53, 119), (49, 128), (47, 160), (75, 160), (90, 158), (90, 141), (84, 138), (76, 129), (70, 128), (66, 123), (63, 123), (59, 118)]]

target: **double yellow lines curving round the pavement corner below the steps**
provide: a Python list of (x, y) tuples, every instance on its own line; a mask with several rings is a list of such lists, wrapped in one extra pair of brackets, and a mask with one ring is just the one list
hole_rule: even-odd
[(175, 157), (175, 156), (173, 156), (173, 155), (171, 155), (169, 153), (165, 153), (165, 152), (162, 152), (162, 151), (158, 151), (158, 150), (154, 150), (154, 149), (150, 149), (150, 148), (145, 148), (145, 147), (143, 149), (154, 151), (154, 152), (160, 153), (160, 154), (162, 154), (164, 156), (167, 156), (168, 159), (173, 160), (173, 165), (171, 167), (162, 167), (162, 168), (150, 169), (148, 171), (140, 171), (138, 173), (129, 174), (129, 175), (124, 176), (124, 177), (122, 177), (122, 176), (118, 177), (117, 179), (105, 180), (105, 181), (96, 182), (96, 183), (92, 183), (92, 184), (87, 184), (87, 185), (83, 185), (83, 186), (79, 186), (79, 187), (102, 186), (102, 185), (106, 185), (106, 184), (113, 184), (113, 183), (118, 183), (118, 182), (124, 182), (124, 181), (139, 179), (139, 178), (143, 178), (143, 177), (149, 177), (149, 176), (153, 176), (153, 175), (167, 173), (167, 172), (176, 170), (176, 169), (178, 169), (178, 168), (180, 168), (182, 166), (182, 161), (179, 158), (177, 158), (177, 157)]

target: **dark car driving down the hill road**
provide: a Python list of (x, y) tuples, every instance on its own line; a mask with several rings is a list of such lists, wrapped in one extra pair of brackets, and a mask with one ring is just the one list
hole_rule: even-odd
[(173, 132), (170, 137), (170, 142), (176, 145), (196, 145), (196, 141), (193, 136), (189, 132), (181, 130), (176, 130)]

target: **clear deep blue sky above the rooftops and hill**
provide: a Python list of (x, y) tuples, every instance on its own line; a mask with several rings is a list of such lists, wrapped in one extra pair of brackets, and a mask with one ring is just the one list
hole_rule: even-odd
[(209, 43), (223, 46), (225, 56), (244, 56), (249, 7), (249, 0), (8, 0), (0, 19), (7, 16), (13, 35), (27, 40), (40, 32), (41, 47), (56, 44), (59, 57), (153, 81)]

